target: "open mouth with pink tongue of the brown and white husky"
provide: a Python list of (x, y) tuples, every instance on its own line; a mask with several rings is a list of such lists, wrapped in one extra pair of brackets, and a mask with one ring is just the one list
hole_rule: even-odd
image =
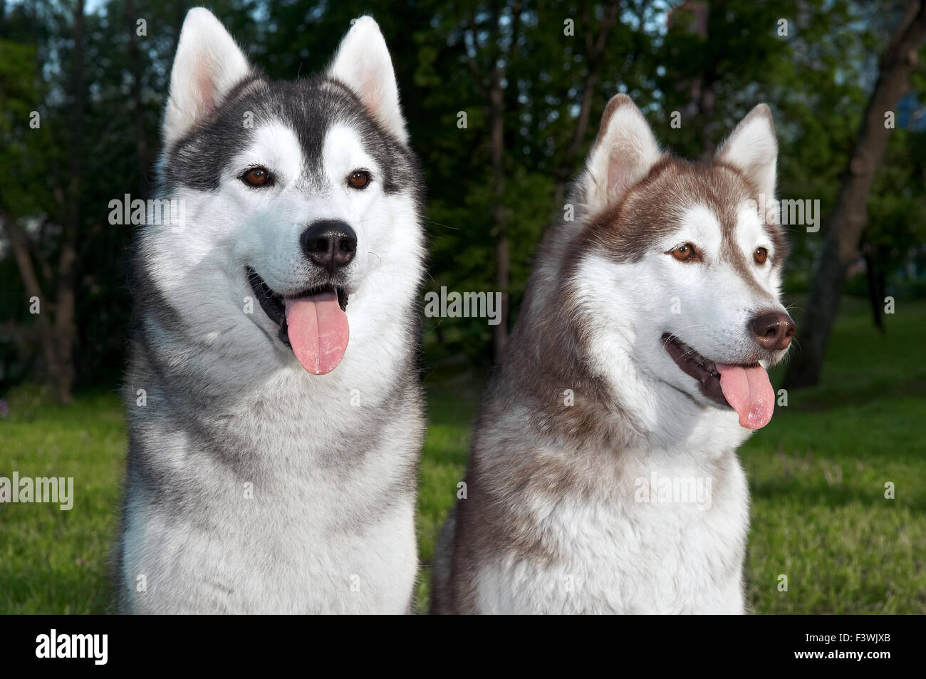
[(769, 423), (775, 409), (775, 392), (769, 373), (758, 363), (715, 363), (669, 333), (662, 335), (662, 344), (675, 364), (694, 377), (702, 394), (720, 406), (736, 410), (740, 426), (760, 429)]

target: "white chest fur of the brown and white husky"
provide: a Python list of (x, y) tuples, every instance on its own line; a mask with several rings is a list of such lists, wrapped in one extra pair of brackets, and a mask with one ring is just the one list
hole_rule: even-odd
[[(732, 452), (706, 462), (629, 460), (594, 497), (527, 503), (556, 560), (482, 565), (484, 612), (742, 613), (745, 474)], [(605, 484), (603, 484), (604, 487)]]

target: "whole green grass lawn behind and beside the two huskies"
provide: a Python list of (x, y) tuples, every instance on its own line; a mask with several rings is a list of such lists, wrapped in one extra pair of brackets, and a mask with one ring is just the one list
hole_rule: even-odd
[[(926, 612), (926, 303), (900, 302), (887, 324), (880, 335), (864, 303), (845, 299), (823, 384), (789, 394), (740, 450), (752, 491), (745, 574), (754, 612)], [(482, 375), (448, 372), (424, 379), (420, 611), (482, 386)], [(773, 382), (780, 378), (776, 371)], [(104, 612), (126, 446), (118, 399), (92, 393), (49, 407), (28, 388), (8, 399), (0, 475), (73, 476), (77, 501), (70, 511), (0, 506), (0, 612)], [(884, 497), (888, 482), (895, 499)]]

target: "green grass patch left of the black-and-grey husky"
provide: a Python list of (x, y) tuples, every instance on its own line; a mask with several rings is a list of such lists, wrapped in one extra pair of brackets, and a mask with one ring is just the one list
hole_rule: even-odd
[(113, 394), (48, 406), (34, 389), (9, 396), (0, 476), (74, 478), (74, 506), (0, 504), (0, 613), (99, 613), (126, 453)]

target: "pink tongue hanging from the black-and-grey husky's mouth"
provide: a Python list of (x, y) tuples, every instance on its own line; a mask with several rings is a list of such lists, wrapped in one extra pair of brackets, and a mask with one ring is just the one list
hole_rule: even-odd
[(333, 290), (298, 299), (286, 297), (286, 330), (296, 360), (313, 375), (338, 367), (347, 348), (347, 314)]

